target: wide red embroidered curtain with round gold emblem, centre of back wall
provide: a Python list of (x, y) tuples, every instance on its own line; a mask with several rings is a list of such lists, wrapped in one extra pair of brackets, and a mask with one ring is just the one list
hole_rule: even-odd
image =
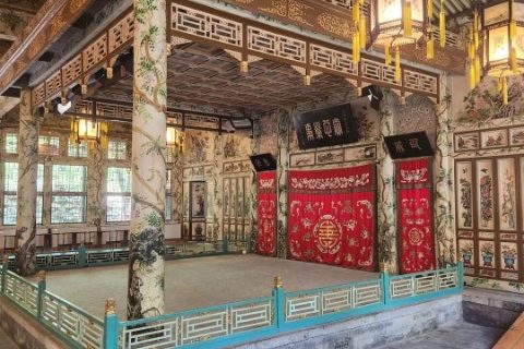
[(290, 258), (373, 270), (374, 166), (289, 171)]

